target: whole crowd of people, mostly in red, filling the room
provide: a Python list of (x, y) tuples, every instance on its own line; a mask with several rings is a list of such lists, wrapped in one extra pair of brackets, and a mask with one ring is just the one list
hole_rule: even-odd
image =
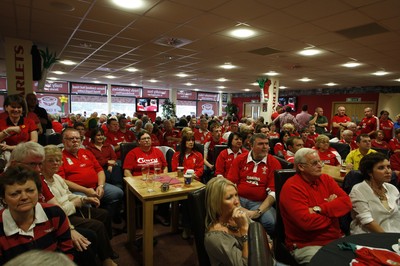
[[(321, 107), (309, 114), (305, 105), (297, 115), (291, 108), (278, 107), (268, 124), (263, 117), (207, 115), (151, 121), (141, 113), (44, 119), (34, 94), (26, 99), (9, 95), (4, 107), (2, 263), (29, 250), (27, 241), (33, 237), (36, 248), (61, 251), (78, 264), (95, 258), (102, 265), (116, 265), (113, 259), (118, 255), (110, 239), (112, 223), (124, 218), (123, 177), (141, 175), (147, 164), (164, 172), (168, 166), (172, 171), (193, 169), (194, 178), (206, 184), (205, 246), (213, 265), (247, 263), (247, 231), (253, 221), (274, 238), (277, 204), (286, 247), (300, 264), (343, 236), (338, 219), (350, 211), (351, 233), (400, 232), (399, 192), (388, 184), (393, 176), (400, 177), (400, 116), (395, 123), (385, 110), (378, 118), (365, 108), (365, 117), (355, 124), (343, 106), (332, 119)], [(49, 132), (61, 134), (61, 143), (47, 145)], [(121, 143), (127, 142), (136, 142), (137, 147), (122, 162)], [(342, 157), (332, 143), (348, 145), (350, 152)], [(222, 144), (226, 149), (216, 153)], [(175, 151), (171, 161), (157, 146)], [(386, 149), (387, 155), (374, 148)], [(278, 159), (294, 164), (297, 171), (283, 187), (280, 202), (274, 184), (274, 172), (282, 168)], [(360, 170), (364, 181), (347, 195), (332, 177), (322, 174), (325, 164)], [(185, 201), (181, 204), (186, 239), (189, 210)], [(163, 224), (168, 225), (168, 206), (163, 209)], [(51, 237), (37, 231), (46, 226), (55, 229)], [(10, 239), (13, 235), (17, 240)]]

